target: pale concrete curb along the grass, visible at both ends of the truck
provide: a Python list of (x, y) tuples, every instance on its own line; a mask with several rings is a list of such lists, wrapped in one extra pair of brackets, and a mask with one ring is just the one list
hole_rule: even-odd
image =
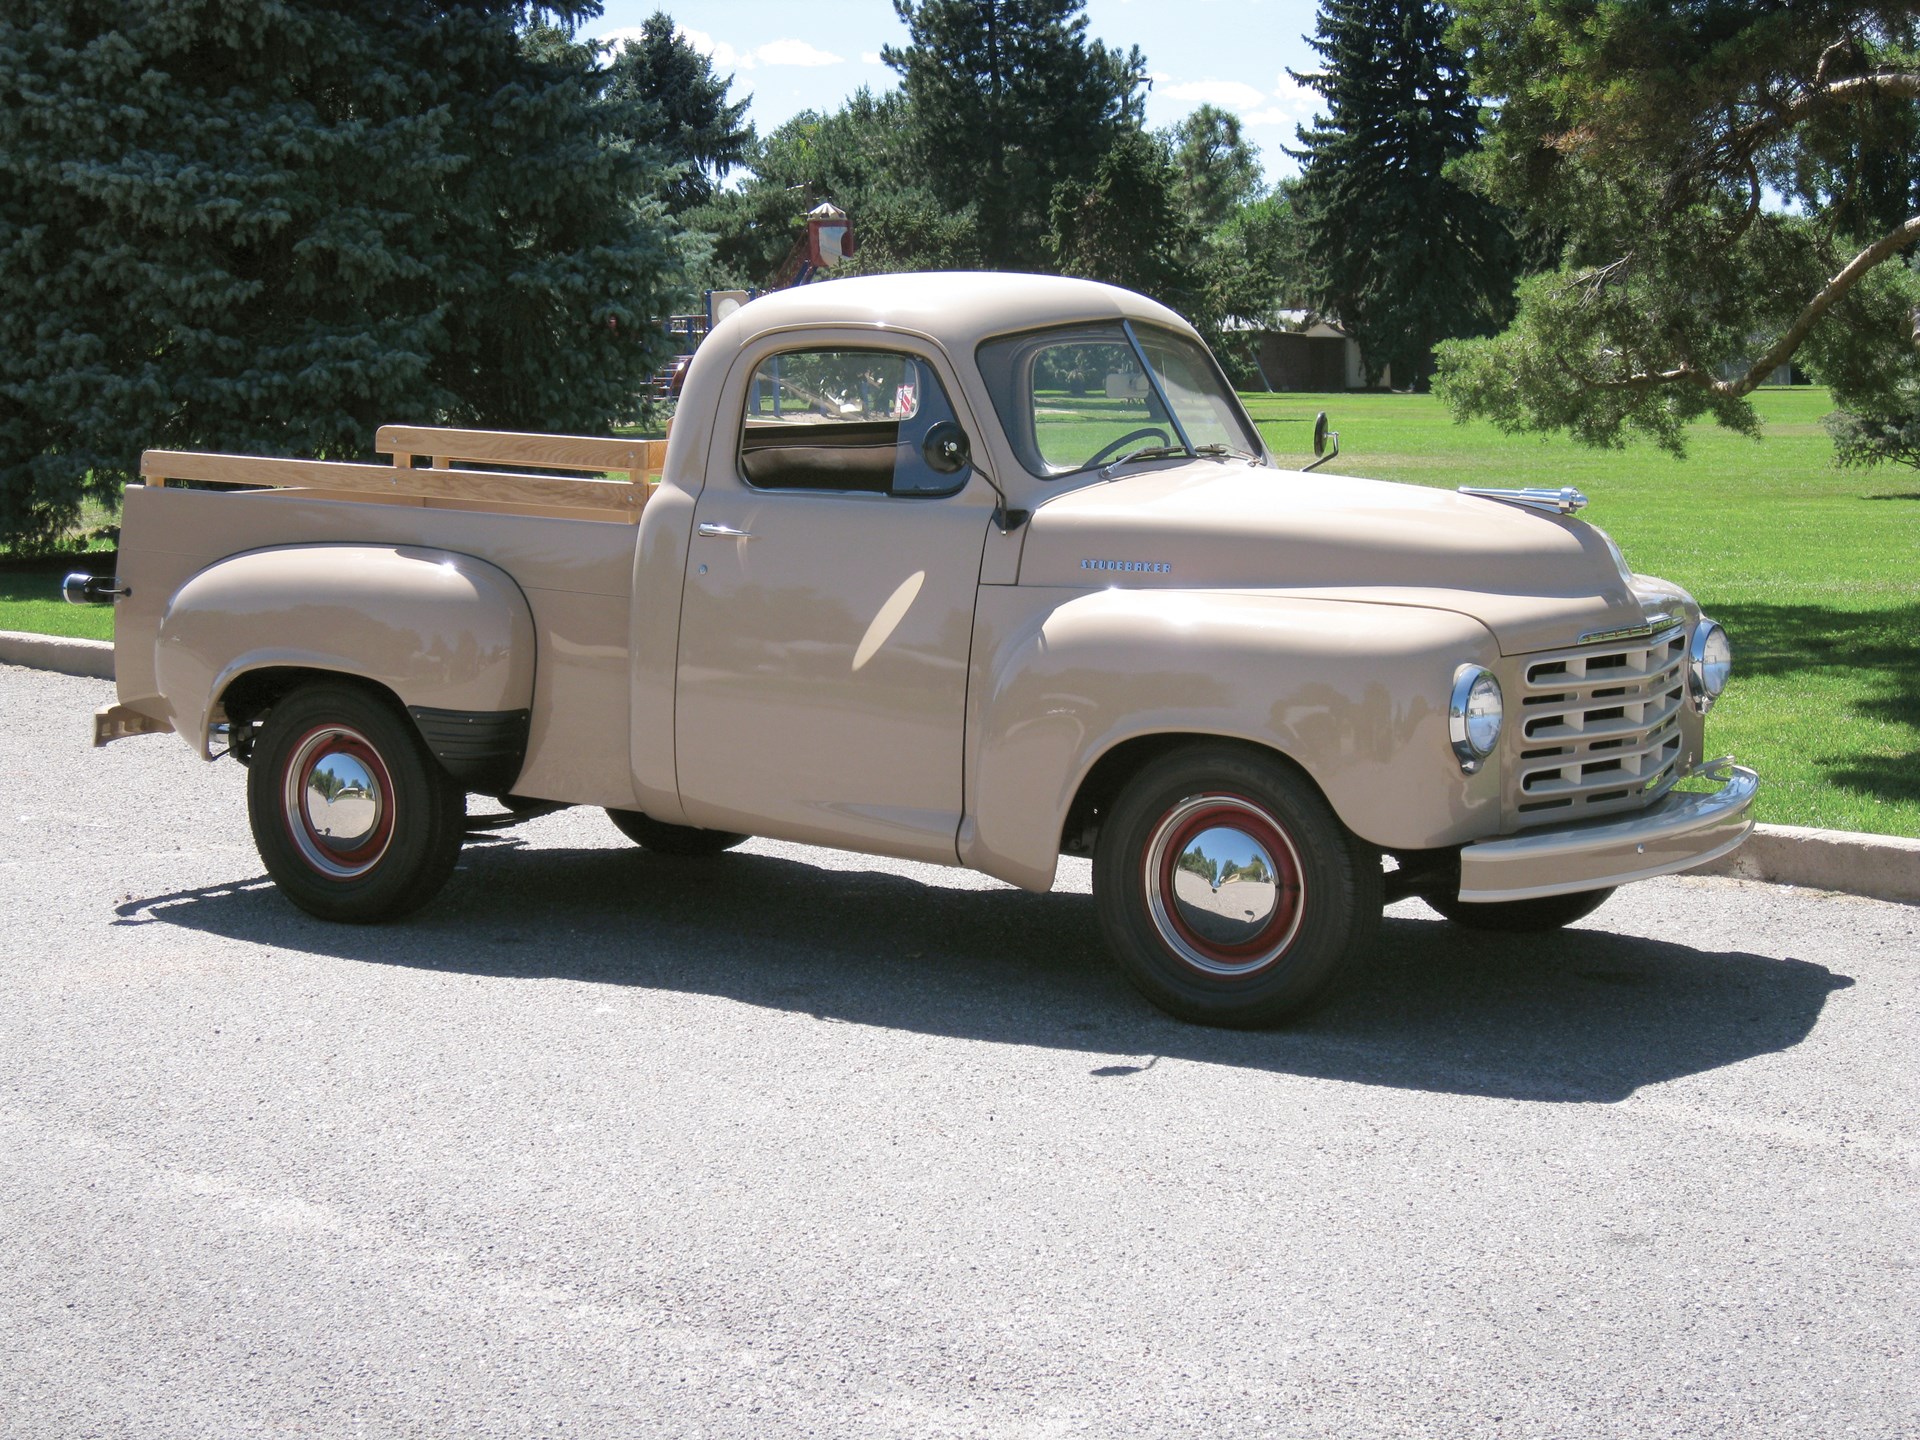
[[(0, 664), (27, 664), (92, 680), (113, 678), (113, 645), (106, 639), (63, 639), (0, 630)], [(1872, 900), (1920, 904), (1920, 839), (1855, 835), (1845, 829), (1755, 826), (1732, 854), (1690, 876), (1734, 876), (1768, 885), (1864, 895)]]

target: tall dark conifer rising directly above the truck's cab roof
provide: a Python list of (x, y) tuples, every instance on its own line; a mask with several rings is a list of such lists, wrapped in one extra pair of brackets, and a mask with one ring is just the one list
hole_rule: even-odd
[(948, 211), (973, 205), (981, 261), (1037, 269), (1062, 180), (1087, 180), (1140, 121), (1146, 58), (1087, 40), (1085, 0), (895, 0), (920, 156)]

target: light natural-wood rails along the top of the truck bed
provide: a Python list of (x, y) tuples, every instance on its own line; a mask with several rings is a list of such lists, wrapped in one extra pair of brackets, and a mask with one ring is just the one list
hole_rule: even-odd
[[(165, 486), (169, 480), (198, 480), (232, 486), (346, 490), (411, 499), (551, 505), (614, 511), (628, 520), (637, 520), (647, 495), (659, 484), (659, 468), (666, 459), (666, 442), (662, 440), (426, 430), (403, 424), (380, 426), (376, 445), (382, 455), (394, 457), (392, 465), (150, 449), (140, 457), (140, 478), (150, 486)], [(432, 467), (417, 467), (415, 457), (430, 459)], [(511, 470), (461, 470), (455, 468), (455, 461), (534, 465), (588, 474), (574, 478)], [(603, 478), (607, 470), (624, 472), (628, 478)]]

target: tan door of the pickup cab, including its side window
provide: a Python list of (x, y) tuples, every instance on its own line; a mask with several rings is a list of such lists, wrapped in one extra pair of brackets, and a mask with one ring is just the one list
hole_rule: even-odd
[[(939, 442), (931, 355), (747, 351), (714, 417), (680, 620), (687, 820), (956, 860), (973, 597), (996, 493)], [(929, 459), (931, 455), (931, 459)]]

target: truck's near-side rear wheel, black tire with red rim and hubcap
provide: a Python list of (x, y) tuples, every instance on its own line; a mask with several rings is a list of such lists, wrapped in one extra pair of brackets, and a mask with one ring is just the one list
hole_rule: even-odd
[[(417, 910), (461, 852), (467, 793), (399, 707), (361, 685), (317, 682), (275, 705), (246, 799), (267, 874), (321, 920), (371, 924)], [(328, 820), (351, 835), (342, 839)]]

